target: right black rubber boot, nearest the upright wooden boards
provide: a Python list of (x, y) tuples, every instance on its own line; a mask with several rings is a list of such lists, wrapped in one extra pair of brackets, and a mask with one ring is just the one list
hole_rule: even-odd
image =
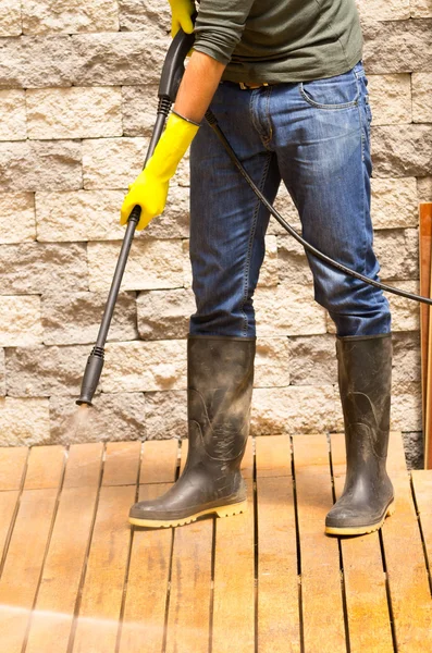
[(338, 337), (338, 383), (345, 422), (344, 492), (325, 518), (325, 532), (378, 530), (394, 513), (385, 469), (392, 383), (392, 335)]

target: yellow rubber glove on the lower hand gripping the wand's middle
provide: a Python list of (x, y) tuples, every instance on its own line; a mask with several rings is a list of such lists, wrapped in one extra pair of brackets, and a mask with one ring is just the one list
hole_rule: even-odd
[(135, 182), (129, 184), (129, 192), (121, 209), (120, 224), (126, 224), (135, 205), (141, 207), (137, 231), (145, 229), (153, 218), (163, 212), (170, 180), (198, 130), (198, 125), (171, 113), (152, 157)]

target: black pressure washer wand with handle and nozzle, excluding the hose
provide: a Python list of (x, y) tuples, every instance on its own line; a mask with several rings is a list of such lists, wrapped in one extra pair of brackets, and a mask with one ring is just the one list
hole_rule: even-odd
[[(158, 145), (159, 138), (162, 135), (166, 122), (166, 118), (171, 111), (171, 107), (175, 102), (178, 86), (184, 73), (184, 61), (186, 54), (194, 45), (194, 34), (185, 34), (183, 29), (180, 29), (173, 38), (166, 52), (158, 90), (158, 114), (143, 169), (146, 167), (147, 161), (150, 159), (156, 146)], [(135, 229), (139, 222), (140, 214), (141, 208), (136, 205), (132, 210), (127, 221), (126, 233), (120, 250), (110, 293), (108, 295), (107, 305), (99, 328), (98, 337), (94, 348), (91, 349), (91, 354), (87, 359), (87, 366), (81, 386), (81, 395), (76, 401), (78, 406), (82, 404), (87, 404), (88, 406), (92, 405), (91, 399), (99, 384), (100, 374), (102, 373), (104, 344), (107, 342), (108, 331), (110, 329), (120, 286), (132, 246), (132, 241), (134, 238)]]

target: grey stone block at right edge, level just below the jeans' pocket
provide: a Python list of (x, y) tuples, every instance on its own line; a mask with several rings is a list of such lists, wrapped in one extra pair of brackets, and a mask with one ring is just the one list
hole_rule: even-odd
[(373, 127), (372, 158), (374, 176), (432, 174), (432, 125)]

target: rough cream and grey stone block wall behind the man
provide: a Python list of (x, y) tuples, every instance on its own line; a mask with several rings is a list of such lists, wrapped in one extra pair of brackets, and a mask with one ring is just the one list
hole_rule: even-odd
[[(0, 445), (186, 433), (194, 310), (188, 163), (135, 238), (91, 428), (71, 429), (143, 167), (170, 13), (155, 0), (0, 0)], [(418, 204), (432, 201), (432, 0), (358, 0), (373, 112), (384, 281), (418, 289)], [(295, 225), (281, 188), (277, 208)], [(256, 434), (338, 431), (334, 329), (297, 244), (272, 223), (256, 294)], [(392, 426), (421, 445), (419, 308), (390, 297)], [(416, 464), (416, 460), (414, 460)]]

